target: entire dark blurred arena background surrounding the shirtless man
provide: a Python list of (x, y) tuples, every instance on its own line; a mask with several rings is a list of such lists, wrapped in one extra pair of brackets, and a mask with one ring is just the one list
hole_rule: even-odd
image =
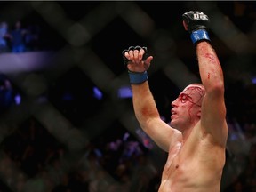
[[(182, 26), (190, 10), (209, 15), (224, 71), (221, 191), (256, 191), (253, 1), (0, 2), (0, 191), (156, 192), (167, 155), (134, 116), (121, 52), (148, 47), (148, 81), (169, 122), (172, 100), (199, 81)], [(14, 49), (18, 21), (24, 44)]]

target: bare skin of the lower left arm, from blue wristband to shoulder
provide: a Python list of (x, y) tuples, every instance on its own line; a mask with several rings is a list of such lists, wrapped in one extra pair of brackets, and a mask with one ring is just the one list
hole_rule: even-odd
[(160, 118), (148, 81), (132, 84), (132, 94), (133, 108), (140, 127), (160, 148), (168, 152), (170, 145), (178, 140), (181, 142), (181, 133)]

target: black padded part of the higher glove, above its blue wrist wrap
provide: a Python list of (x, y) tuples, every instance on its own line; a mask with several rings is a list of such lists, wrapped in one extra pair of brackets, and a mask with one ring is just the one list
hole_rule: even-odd
[(199, 29), (207, 30), (210, 23), (208, 16), (204, 14), (204, 12), (198, 11), (185, 12), (182, 15), (182, 19), (186, 22), (188, 26), (189, 34)]

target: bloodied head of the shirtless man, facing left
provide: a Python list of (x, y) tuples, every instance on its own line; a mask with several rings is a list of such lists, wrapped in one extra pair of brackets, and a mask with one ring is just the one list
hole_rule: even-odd
[(182, 132), (199, 121), (204, 94), (203, 84), (189, 84), (180, 92), (178, 98), (172, 101), (171, 126), (173, 128)]

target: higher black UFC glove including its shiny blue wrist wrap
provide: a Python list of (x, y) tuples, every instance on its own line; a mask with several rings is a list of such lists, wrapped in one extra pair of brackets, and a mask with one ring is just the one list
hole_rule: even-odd
[(210, 37), (208, 36), (208, 26), (210, 20), (204, 12), (190, 11), (185, 12), (182, 15), (182, 19), (187, 24), (188, 33), (193, 44), (196, 44), (200, 41), (209, 41)]

